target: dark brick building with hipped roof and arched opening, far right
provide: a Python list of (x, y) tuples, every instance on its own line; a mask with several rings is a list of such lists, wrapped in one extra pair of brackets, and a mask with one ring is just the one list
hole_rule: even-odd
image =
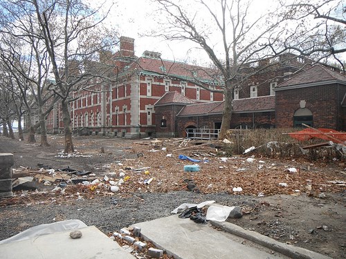
[(320, 64), (275, 89), (278, 128), (300, 126), (346, 128), (346, 77)]

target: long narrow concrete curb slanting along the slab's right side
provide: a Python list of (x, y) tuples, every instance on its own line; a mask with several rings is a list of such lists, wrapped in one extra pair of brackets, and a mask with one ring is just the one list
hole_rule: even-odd
[(212, 220), (210, 221), (210, 223), (212, 224), (212, 226), (218, 227), (223, 231), (231, 233), (235, 236), (239, 236), (241, 238), (245, 238), (247, 240), (251, 240), (252, 242), (260, 244), (263, 247), (267, 247), (268, 249), (272, 249), (273, 251), (277, 251), (278, 253), (282, 253), (284, 256), (289, 256), (293, 259), (332, 259), (329, 256), (324, 256), (314, 251), (278, 242), (255, 231), (243, 229), (236, 224), (232, 224), (229, 222), (217, 222)]

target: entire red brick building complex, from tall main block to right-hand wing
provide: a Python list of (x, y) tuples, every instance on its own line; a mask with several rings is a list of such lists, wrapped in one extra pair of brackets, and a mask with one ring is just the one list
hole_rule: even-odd
[[(221, 89), (210, 76), (214, 71), (161, 59), (158, 52), (136, 57), (134, 39), (128, 37), (120, 37), (120, 50), (111, 57), (107, 62), (115, 67), (115, 83), (92, 81), (73, 93), (74, 131), (134, 138), (182, 137), (187, 128), (220, 128), (224, 96), (208, 90)], [(345, 76), (321, 65), (311, 68), (311, 63), (284, 54), (248, 64), (245, 73), (269, 66), (235, 88), (230, 128), (291, 127), (305, 118), (307, 124), (345, 129)], [(51, 132), (62, 131), (58, 107), (47, 122)]]

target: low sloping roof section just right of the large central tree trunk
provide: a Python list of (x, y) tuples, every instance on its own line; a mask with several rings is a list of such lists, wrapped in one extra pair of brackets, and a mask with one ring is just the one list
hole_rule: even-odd
[(275, 95), (233, 100), (233, 112), (274, 111)]

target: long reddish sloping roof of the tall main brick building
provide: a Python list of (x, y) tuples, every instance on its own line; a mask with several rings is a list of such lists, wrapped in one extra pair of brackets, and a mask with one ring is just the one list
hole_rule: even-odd
[(218, 78), (215, 70), (157, 57), (139, 57), (129, 66), (129, 69), (190, 81), (203, 81), (212, 85), (220, 84), (220, 80), (215, 79)]

